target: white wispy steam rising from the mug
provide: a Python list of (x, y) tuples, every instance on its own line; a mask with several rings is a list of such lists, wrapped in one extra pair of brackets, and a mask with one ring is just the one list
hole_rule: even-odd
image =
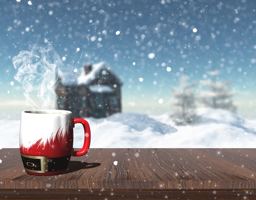
[(13, 57), (13, 66), (18, 70), (14, 78), (22, 83), (26, 103), (32, 109), (52, 108), (58, 84), (56, 70), (62, 64), (61, 58), (51, 44), (34, 44), (29, 49)]

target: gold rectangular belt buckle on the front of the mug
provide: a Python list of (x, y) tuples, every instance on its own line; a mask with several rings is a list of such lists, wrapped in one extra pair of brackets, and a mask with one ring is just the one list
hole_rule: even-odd
[(46, 156), (20, 154), (26, 171), (34, 173), (46, 173), (48, 171), (48, 158)]

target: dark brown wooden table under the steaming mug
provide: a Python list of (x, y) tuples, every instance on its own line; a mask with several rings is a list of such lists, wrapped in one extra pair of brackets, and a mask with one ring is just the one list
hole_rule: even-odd
[(255, 200), (256, 150), (90, 149), (65, 174), (32, 176), (1, 149), (0, 198)]

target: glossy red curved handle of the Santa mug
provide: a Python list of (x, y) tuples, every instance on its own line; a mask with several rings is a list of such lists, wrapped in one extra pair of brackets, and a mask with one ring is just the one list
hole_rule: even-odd
[(84, 142), (83, 142), (83, 147), (79, 151), (72, 151), (72, 156), (83, 156), (88, 152), (88, 149), (90, 147), (90, 142), (91, 142), (91, 131), (90, 131), (90, 126), (89, 123), (81, 118), (74, 118), (74, 125), (76, 123), (80, 123), (83, 125), (83, 130), (85, 134)]

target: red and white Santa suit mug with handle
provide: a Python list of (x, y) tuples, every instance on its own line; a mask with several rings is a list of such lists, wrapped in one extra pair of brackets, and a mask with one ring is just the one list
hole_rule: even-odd
[[(84, 129), (82, 149), (73, 149), (73, 127)], [(83, 156), (90, 146), (90, 127), (86, 120), (72, 118), (66, 110), (22, 111), (20, 153), (28, 174), (48, 176), (64, 173), (71, 156)]]

